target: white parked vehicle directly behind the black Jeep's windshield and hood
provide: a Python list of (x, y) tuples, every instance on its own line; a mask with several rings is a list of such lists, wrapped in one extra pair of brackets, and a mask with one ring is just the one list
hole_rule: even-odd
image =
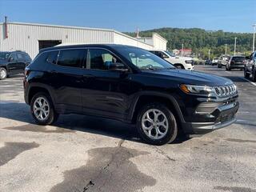
[(150, 50), (151, 53), (158, 55), (158, 57), (165, 59), (174, 66), (183, 70), (194, 70), (194, 62), (192, 58), (180, 57), (171, 54), (165, 50)]

